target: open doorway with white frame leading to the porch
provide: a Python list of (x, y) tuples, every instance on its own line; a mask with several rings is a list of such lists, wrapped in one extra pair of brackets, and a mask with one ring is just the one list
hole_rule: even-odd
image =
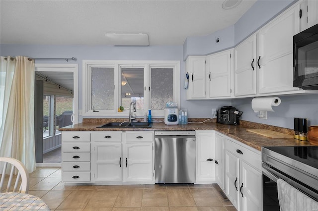
[(61, 166), (61, 131), (78, 123), (78, 65), (35, 64), (37, 166)]

